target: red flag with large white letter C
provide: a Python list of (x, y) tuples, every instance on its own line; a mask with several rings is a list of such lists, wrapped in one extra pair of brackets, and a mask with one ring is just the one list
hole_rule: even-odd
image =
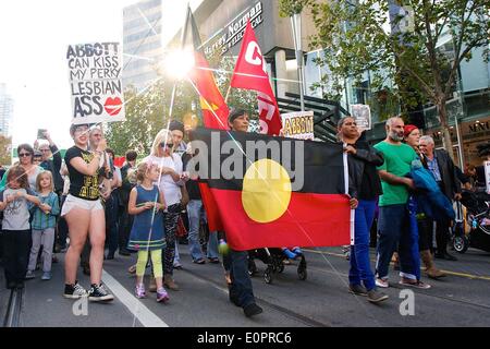
[(270, 86), (266, 60), (262, 57), (249, 21), (245, 28), (242, 49), (230, 85), (232, 87), (257, 91), (262, 133), (279, 134), (282, 123), (278, 103)]

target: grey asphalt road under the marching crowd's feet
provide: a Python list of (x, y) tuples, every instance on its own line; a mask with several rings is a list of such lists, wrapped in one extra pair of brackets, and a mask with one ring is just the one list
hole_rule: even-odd
[[(261, 276), (265, 265), (257, 261), (259, 275), (253, 278), (257, 303), (264, 313), (253, 318), (228, 300), (223, 269), (219, 264), (197, 265), (191, 262), (187, 246), (181, 244), (184, 268), (175, 270), (180, 291), (170, 291), (170, 301), (156, 302), (156, 294), (137, 300), (133, 296), (134, 276), (126, 269), (135, 255), (106, 261), (103, 281), (117, 299), (108, 304), (77, 303), (62, 297), (63, 257), (53, 264), (50, 281), (37, 278), (26, 281), (22, 294), (19, 326), (49, 327), (318, 327), (318, 326), (490, 326), (490, 253), (469, 249), (457, 254), (457, 262), (437, 261), (449, 276), (429, 280), (428, 290), (411, 289), (408, 306), (400, 277), (391, 272), (391, 287), (383, 290), (390, 299), (370, 304), (364, 297), (347, 292), (348, 262), (340, 248), (307, 249), (308, 278), (299, 280), (297, 263), (274, 275), (272, 284)], [(371, 256), (373, 251), (371, 251)], [(372, 258), (373, 260), (373, 258)], [(148, 278), (146, 278), (148, 279)], [(89, 280), (79, 273), (81, 284)], [(0, 320), (4, 320), (10, 291), (0, 275)], [(402, 298), (401, 298), (402, 296)], [(405, 301), (405, 302), (404, 302)], [(404, 302), (404, 303), (402, 303)], [(404, 312), (405, 315), (401, 314)], [(406, 314), (408, 313), (408, 314)], [(2, 323), (3, 324), (3, 323)]]

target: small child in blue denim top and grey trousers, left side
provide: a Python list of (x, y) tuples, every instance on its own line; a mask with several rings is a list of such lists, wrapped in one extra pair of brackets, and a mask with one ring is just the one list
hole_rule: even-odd
[(27, 267), (26, 279), (35, 277), (37, 254), (42, 245), (42, 280), (51, 279), (52, 246), (54, 244), (56, 216), (60, 214), (58, 195), (53, 193), (54, 186), (50, 171), (37, 174), (36, 190), (40, 200), (40, 205), (34, 209), (33, 218), (33, 246), (30, 248), (29, 265)]

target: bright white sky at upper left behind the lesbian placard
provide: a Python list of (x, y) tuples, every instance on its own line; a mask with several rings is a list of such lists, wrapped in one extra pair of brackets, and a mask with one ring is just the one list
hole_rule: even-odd
[[(123, 8), (136, 0), (1, 0), (0, 83), (14, 99), (13, 145), (33, 144), (47, 129), (60, 148), (72, 145), (69, 45), (123, 41)], [(186, 1), (163, 0), (163, 8)], [(166, 19), (167, 25), (173, 24)]]

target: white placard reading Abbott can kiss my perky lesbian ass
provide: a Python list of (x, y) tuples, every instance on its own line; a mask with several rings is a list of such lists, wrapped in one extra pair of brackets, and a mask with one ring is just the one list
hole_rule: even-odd
[(70, 45), (72, 123), (124, 121), (119, 43)]

